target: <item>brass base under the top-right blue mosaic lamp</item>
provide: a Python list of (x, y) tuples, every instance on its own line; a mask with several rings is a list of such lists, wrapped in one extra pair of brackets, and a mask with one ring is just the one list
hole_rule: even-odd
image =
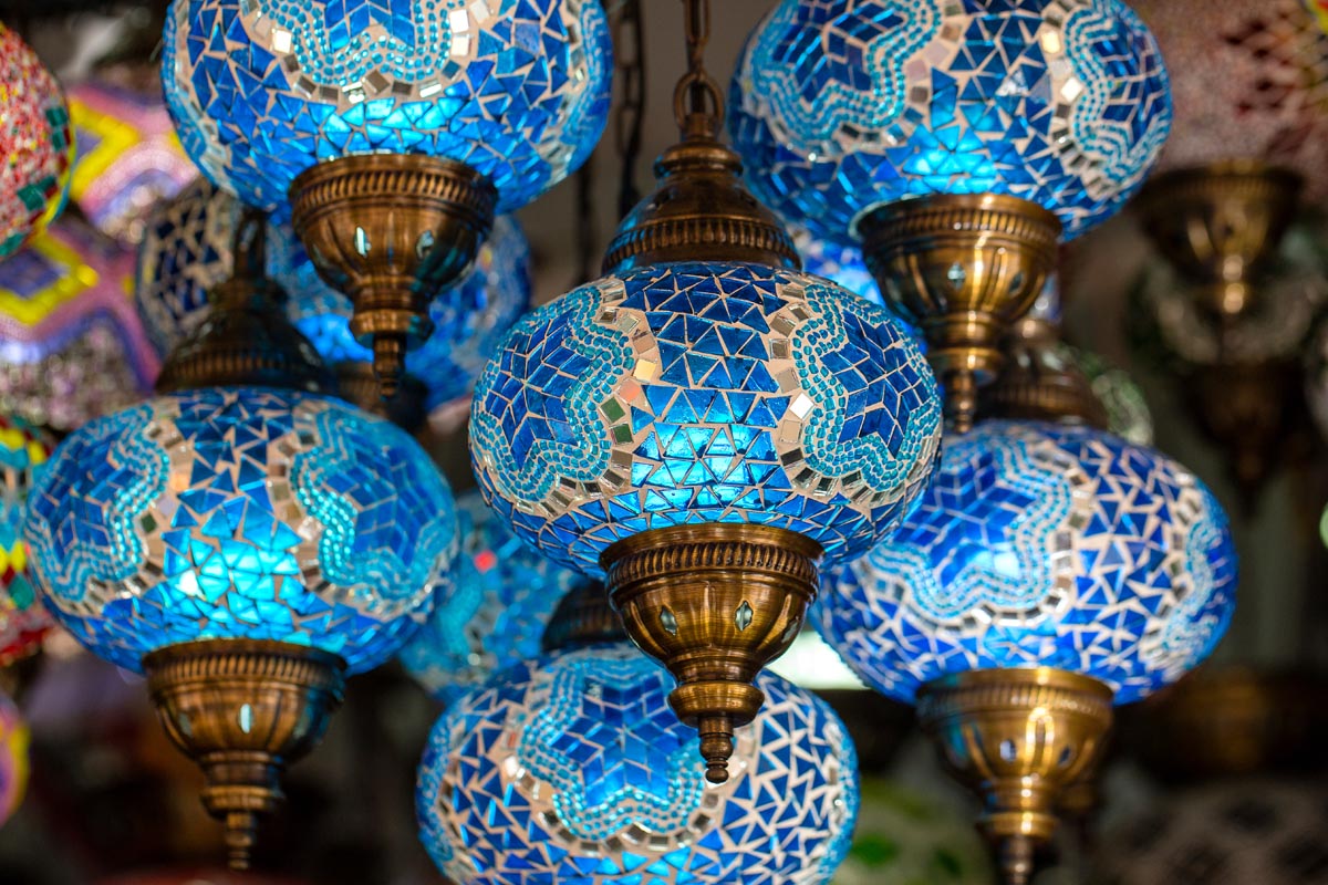
[(1007, 326), (1056, 268), (1060, 220), (1016, 196), (946, 194), (882, 206), (858, 234), (880, 291), (927, 336), (950, 425), (969, 430)]

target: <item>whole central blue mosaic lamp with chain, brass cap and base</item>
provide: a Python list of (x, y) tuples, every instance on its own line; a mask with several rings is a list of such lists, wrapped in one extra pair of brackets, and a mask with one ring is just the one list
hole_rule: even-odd
[(518, 535), (607, 575), (721, 783), (818, 560), (865, 553), (926, 486), (940, 403), (888, 312), (795, 269), (788, 234), (742, 190), (716, 141), (703, 7), (688, 4), (684, 138), (656, 192), (623, 222), (606, 276), (509, 334), (475, 389), (470, 442)]

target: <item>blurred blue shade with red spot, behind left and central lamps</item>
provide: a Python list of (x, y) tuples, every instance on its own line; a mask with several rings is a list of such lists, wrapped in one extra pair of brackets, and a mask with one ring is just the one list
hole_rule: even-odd
[(401, 650), (406, 671), (449, 706), (494, 673), (538, 658), (558, 604), (586, 580), (527, 547), (478, 492), (457, 499), (457, 516), (456, 576)]

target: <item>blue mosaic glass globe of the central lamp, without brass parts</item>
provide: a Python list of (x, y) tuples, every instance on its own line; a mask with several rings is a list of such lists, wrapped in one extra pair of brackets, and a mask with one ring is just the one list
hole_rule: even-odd
[(940, 401), (883, 308), (799, 272), (679, 263), (518, 322), (475, 387), (470, 439), (486, 500), (592, 576), (615, 540), (689, 523), (789, 528), (835, 560), (920, 494)]

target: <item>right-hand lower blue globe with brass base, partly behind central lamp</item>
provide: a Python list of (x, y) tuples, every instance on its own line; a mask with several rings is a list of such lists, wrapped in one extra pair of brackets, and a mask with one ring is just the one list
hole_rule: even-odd
[(919, 715), (1027, 882), (1112, 720), (1224, 633), (1235, 551), (1183, 467), (1086, 425), (988, 421), (888, 543), (826, 579), (817, 628)]

